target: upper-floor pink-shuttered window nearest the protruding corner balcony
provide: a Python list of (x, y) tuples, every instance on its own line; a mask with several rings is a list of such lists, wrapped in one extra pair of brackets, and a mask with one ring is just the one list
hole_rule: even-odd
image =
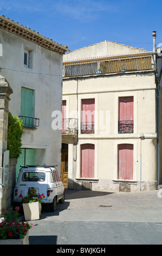
[(82, 100), (81, 133), (94, 133), (94, 110), (95, 110), (94, 99)]

